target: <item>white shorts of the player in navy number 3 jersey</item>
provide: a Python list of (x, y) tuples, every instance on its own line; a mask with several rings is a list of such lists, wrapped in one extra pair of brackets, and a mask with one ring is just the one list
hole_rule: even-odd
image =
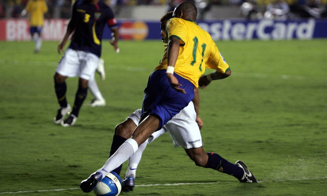
[(99, 57), (93, 53), (67, 48), (62, 56), (56, 72), (66, 77), (79, 76), (85, 80), (94, 78)]

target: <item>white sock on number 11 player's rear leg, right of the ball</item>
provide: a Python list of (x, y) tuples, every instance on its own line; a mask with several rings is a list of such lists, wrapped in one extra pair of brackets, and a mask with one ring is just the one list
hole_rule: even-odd
[(141, 161), (143, 151), (146, 148), (146, 144), (147, 144), (147, 142), (144, 142), (143, 144), (141, 144), (139, 146), (139, 148), (137, 149), (137, 151), (129, 157), (128, 168), (127, 168), (124, 178), (128, 178), (128, 177), (135, 178), (136, 177), (136, 169)]

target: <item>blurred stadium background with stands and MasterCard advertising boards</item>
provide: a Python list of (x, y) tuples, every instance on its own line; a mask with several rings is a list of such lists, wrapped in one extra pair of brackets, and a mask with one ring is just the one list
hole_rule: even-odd
[[(30, 40), (28, 20), (20, 17), (20, 12), (26, 2), (26, 0), (3, 1), (0, 7), (0, 17), (5, 17), (5, 19), (0, 19), (0, 40)], [(165, 4), (165, 1), (106, 2), (112, 5), (116, 13), (122, 39), (144, 40), (160, 39), (158, 20), (167, 10), (173, 9), (179, 1), (173, 0), (168, 4)], [(324, 1), (288, 1), (289, 11), (283, 16), (270, 16), (266, 13), (268, 10), (266, 6), (274, 1), (198, 0), (196, 2), (199, 7), (198, 24), (207, 30), (214, 40), (257, 38), (289, 40), (327, 37), (327, 19), (324, 19), (327, 16), (327, 9)], [(69, 17), (70, 1), (58, 0), (47, 1), (47, 3), (49, 4), (49, 11), (46, 14), (48, 20), (44, 24), (43, 38), (44, 40), (60, 40), (67, 24), (64, 18)], [(253, 7), (250, 8), (253, 9), (249, 8), (251, 5)], [(316, 12), (307, 11), (309, 8)], [(254, 14), (249, 16), (249, 12)], [(249, 17), (253, 20), (247, 20)], [(111, 38), (109, 31), (106, 27), (104, 39)]]

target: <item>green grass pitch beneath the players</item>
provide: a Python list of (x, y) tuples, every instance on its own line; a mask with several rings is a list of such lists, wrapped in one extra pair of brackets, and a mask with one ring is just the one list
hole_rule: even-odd
[[(107, 79), (96, 78), (107, 106), (84, 105), (75, 126), (63, 128), (53, 124), (57, 44), (33, 54), (33, 42), (0, 42), (0, 195), (94, 195), (78, 185), (107, 160), (115, 125), (141, 107), (163, 54), (160, 41), (121, 41), (119, 54), (103, 41)], [(204, 149), (243, 160), (261, 182), (195, 166), (166, 134), (147, 146), (136, 178), (161, 185), (121, 195), (326, 195), (327, 40), (217, 46), (232, 75), (200, 90)], [(73, 104), (77, 78), (67, 87)], [(173, 183), (202, 184), (162, 185)], [(8, 193), (16, 191), (32, 192)]]

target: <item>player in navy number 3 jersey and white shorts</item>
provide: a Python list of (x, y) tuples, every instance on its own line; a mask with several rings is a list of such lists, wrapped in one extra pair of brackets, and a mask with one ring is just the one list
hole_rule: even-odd
[[(62, 126), (72, 126), (77, 120), (79, 109), (87, 95), (88, 81), (93, 79), (101, 56), (101, 40), (103, 28), (108, 24), (114, 36), (110, 43), (114, 50), (118, 48), (119, 39), (117, 21), (112, 9), (99, 0), (79, 0), (72, 8), (72, 16), (67, 26), (66, 34), (58, 45), (60, 53), (70, 34), (74, 31), (72, 41), (61, 58), (54, 75), (55, 90), (60, 104), (54, 123)], [(66, 100), (67, 77), (79, 76), (78, 89), (73, 110)], [(66, 114), (68, 118), (63, 121)]]

